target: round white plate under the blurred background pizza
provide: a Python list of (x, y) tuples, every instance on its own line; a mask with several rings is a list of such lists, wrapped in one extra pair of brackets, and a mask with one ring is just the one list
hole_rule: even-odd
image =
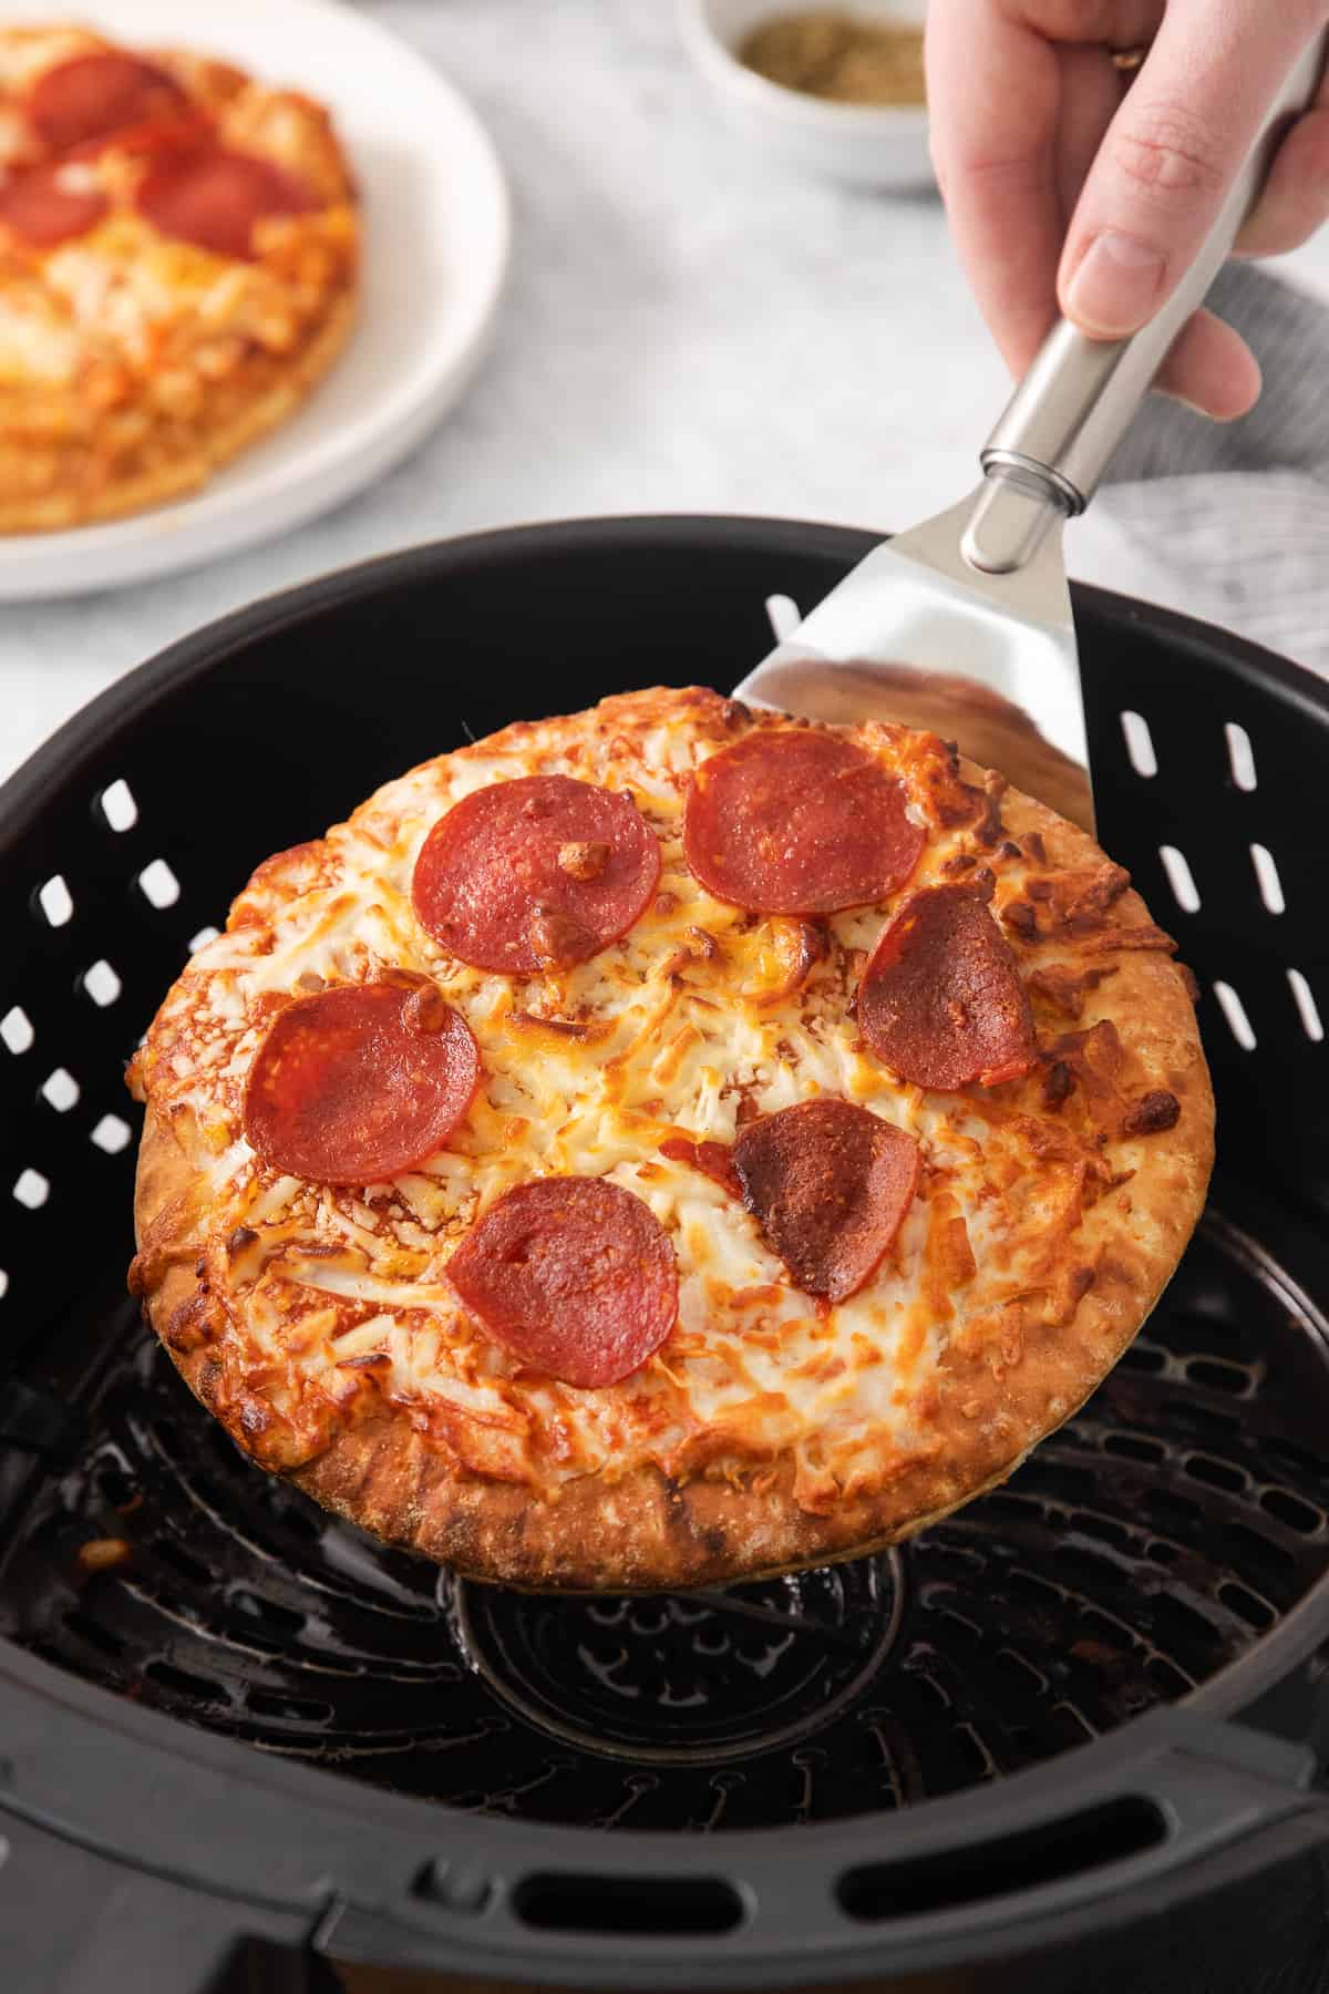
[(305, 407), (195, 498), (106, 526), (0, 536), (0, 600), (122, 588), (299, 526), (406, 455), (462, 393), (498, 307), (508, 191), (470, 106), (339, 0), (4, 0), (128, 44), (227, 56), (321, 98), (365, 203), (361, 321)]

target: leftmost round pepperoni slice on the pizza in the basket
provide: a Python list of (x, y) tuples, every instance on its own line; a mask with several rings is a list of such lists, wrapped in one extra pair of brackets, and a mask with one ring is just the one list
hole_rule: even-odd
[(480, 1079), (466, 1021), (432, 983), (341, 983), (277, 1013), (245, 1089), (263, 1163), (315, 1184), (373, 1184), (424, 1163)]

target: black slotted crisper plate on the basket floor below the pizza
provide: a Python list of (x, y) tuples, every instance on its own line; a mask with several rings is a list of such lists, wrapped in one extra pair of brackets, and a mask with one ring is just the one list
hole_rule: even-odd
[[(903, 1551), (721, 1593), (438, 1575), (253, 1468), (130, 1310), (0, 1627), (207, 1729), (468, 1811), (835, 1821), (1052, 1759), (1249, 1655), (1329, 1563), (1329, 1328), (1205, 1220), (1092, 1404)], [(72, 1380), (74, 1386), (74, 1380)], [(130, 1561), (88, 1579), (80, 1545)]]

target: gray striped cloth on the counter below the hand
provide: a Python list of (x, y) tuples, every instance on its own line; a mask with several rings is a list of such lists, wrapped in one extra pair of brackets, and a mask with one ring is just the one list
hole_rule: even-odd
[(1259, 357), (1259, 403), (1219, 425), (1152, 397), (1066, 560), (1329, 676), (1329, 311), (1249, 263), (1209, 303)]

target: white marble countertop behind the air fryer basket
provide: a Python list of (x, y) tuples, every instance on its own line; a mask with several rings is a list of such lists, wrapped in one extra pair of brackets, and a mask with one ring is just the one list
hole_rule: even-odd
[[(494, 349), (430, 441), (325, 518), (161, 582), (0, 610), (0, 778), (185, 630), (369, 554), (588, 512), (891, 528), (972, 475), (1006, 381), (934, 197), (777, 175), (719, 120), (667, 0), (365, 4), (502, 154), (516, 241)], [(1293, 267), (1329, 289), (1329, 237)]]

